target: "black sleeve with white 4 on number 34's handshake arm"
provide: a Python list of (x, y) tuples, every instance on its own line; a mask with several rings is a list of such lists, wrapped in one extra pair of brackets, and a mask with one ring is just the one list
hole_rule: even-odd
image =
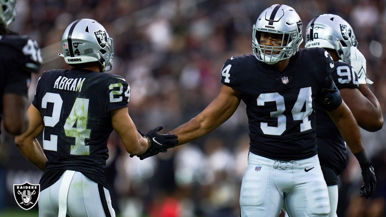
[(224, 66), (221, 69), (221, 83), (230, 86), (237, 92), (240, 92), (239, 83), (237, 77), (240, 76), (242, 71), (242, 57), (231, 57), (225, 61)]

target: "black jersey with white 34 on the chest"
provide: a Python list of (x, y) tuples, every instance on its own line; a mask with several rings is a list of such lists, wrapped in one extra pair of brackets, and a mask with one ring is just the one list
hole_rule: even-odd
[[(315, 102), (323, 102), (317, 99), (325, 95), (322, 88), (333, 68), (331, 56), (322, 48), (300, 49), (283, 72), (251, 54), (225, 62), (221, 82), (241, 93), (247, 105), (252, 153), (277, 160), (317, 154)], [(339, 93), (334, 87), (329, 89)], [(330, 110), (339, 105), (334, 101)]]

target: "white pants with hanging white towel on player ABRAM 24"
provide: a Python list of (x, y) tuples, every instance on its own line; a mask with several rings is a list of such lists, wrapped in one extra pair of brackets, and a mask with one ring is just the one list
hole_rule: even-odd
[(42, 190), (38, 204), (39, 217), (115, 217), (108, 190), (72, 170)]

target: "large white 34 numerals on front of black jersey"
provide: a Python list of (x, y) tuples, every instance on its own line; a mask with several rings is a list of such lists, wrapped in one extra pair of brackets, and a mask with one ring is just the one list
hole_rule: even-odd
[[(284, 97), (279, 93), (262, 93), (257, 98), (257, 105), (264, 106), (265, 102), (276, 102), (276, 111), (270, 112), (271, 118), (278, 119), (278, 126), (268, 126), (267, 122), (261, 122), (260, 128), (264, 134), (280, 136), (286, 130), (287, 118), (283, 114), (286, 110), (284, 105)], [(302, 108), (305, 105), (306, 110), (302, 112)], [(308, 120), (308, 116), (312, 114), (312, 90), (311, 87), (301, 88), (298, 99), (295, 102), (294, 107), (291, 110), (293, 120), (302, 120), (300, 123), (300, 132), (312, 129), (311, 120)]]

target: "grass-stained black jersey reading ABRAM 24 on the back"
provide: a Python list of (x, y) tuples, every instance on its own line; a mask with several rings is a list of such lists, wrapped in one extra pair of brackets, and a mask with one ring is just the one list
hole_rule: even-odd
[(127, 107), (129, 97), (129, 84), (118, 75), (83, 69), (43, 73), (32, 102), (44, 121), (43, 149), (48, 161), (42, 189), (65, 170), (79, 171), (108, 188), (110, 111)]

